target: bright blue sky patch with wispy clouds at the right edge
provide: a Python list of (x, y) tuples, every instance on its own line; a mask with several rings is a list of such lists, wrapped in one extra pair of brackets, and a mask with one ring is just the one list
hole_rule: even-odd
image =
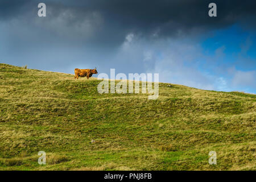
[[(255, 32), (249, 32), (238, 24), (234, 24), (230, 27), (213, 31), (212, 34), (212, 36), (201, 42), (204, 55), (207, 57), (220, 56), (212, 60), (214, 63), (210, 63), (212, 65), (210, 67), (208, 67), (208, 64), (204, 64), (208, 63), (207, 60), (202, 60), (204, 63), (199, 68), (200, 71), (222, 77), (226, 84), (220, 90), (239, 90), (255, 93)], [(238, 79), (236, 75), (240, 75), (241, 78)], [(248, 76), (247, 78), (246, 75)]]

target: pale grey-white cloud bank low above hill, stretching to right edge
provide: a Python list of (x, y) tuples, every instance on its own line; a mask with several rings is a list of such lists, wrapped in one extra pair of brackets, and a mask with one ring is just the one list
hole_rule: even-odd
[(222, 65), (226, 57), (225, 46), (207, 56), (193, 40), (143, 39), (128, 34), (121, 47), (118, 59), (130, 63), (130, 70), (159, 73), (160, 82), (225, 92), (255, 89), (255, 71), (242, 72), (232, 65)]

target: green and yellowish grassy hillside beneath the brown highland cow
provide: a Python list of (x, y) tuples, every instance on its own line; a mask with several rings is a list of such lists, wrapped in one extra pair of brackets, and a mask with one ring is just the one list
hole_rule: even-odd
[(160, 83), (148, 100), (99, 82), (0, 64), (0, 169), (256, 169), (255, 95)]

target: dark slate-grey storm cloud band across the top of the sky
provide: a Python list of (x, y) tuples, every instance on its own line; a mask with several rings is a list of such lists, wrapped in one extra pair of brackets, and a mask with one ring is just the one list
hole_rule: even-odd
[[(41, 1), (1, 1), (0, 18), (2, 21), (23, 19), (24, 22), (31, 22), (37, 18), (35, 14), (39, 2)], [(129, 32), (141, 36), (155, 35), (161, 38), (201, 34), (233, 23), (242, 23), (254, 28), (256, 24), (254, 21), (256, 1), (96, 0), (43, 2), (47, 5), (47, 18), (36, 20), (40, 22), (41, 27), (52, 31), (53, 34), (54, 31), (57, 31), (55, 32), (57, 35), (59, 33), (61, 35), (60, 29), (62, 28), (73, 38), (84, 39), (88, 32), (85, 31), (84, 36), (83, 34), (76, 35), (77, 32), (73, 32), (72, 27), (79, 28), (86, 23), (87, 18), (87, 23), (90, 23), (89, 27), (81, 28), (96, 27), (92, 30), (94, 34), (89, 36), (92, 44), (96, 42), (107, 45), (120, 43)], [(210, 2), (217, 4), (217, 17), (210, 18), (208, 16)], [(52, 19), (51, 24), (49, 24), (50, 19)], [(58, 20), (59, 22), (57, 22)], [(47, 28), (49, 26), (50, 29)]]

